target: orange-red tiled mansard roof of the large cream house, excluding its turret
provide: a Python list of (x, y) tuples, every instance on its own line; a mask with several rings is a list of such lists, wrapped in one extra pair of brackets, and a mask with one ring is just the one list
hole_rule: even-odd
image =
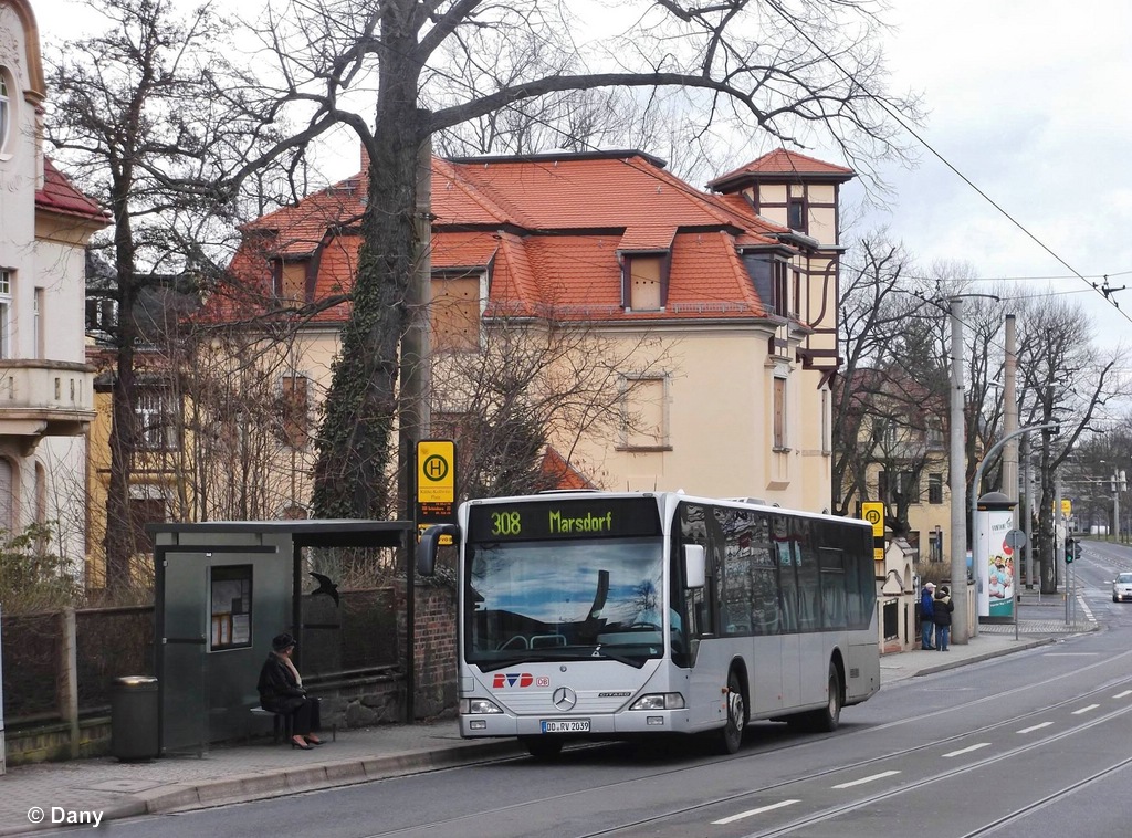
[[(231, 265), (245, 288), (212, 316), (266, 310), (273, 259), (317, 257), (316, 300), (348, 291), (360, 187), (355, 176), (245, 225)], [(700, 191), (637, 152), (434, 160), (432, 213), (432, 270), (488, 271), (488, 316), (763, 318), (738, 248), (781, 248), (787, 232), (741, 196)], [(619, 250), (670, 251), (663, 310), (624, 310)], [(314, 319), (346, 314), (340, 305)]]

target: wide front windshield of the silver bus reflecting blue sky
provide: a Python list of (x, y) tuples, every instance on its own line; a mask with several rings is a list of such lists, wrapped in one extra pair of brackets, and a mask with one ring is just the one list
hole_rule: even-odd
[(663, 653), (660, 538), (473, 542), (466, 558), (470, 664), (611, 658), (640, 667)]

